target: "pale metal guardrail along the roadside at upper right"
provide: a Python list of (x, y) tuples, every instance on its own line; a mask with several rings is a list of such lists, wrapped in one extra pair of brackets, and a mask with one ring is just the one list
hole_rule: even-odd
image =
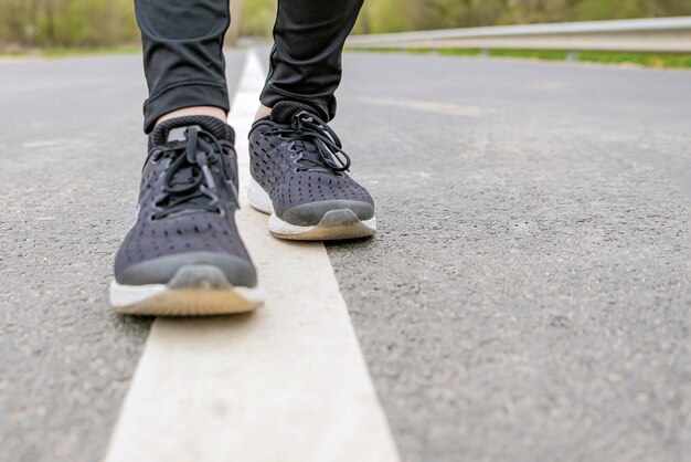
[(691, 17), (353, 35), (348, 46), (691, 53)]

